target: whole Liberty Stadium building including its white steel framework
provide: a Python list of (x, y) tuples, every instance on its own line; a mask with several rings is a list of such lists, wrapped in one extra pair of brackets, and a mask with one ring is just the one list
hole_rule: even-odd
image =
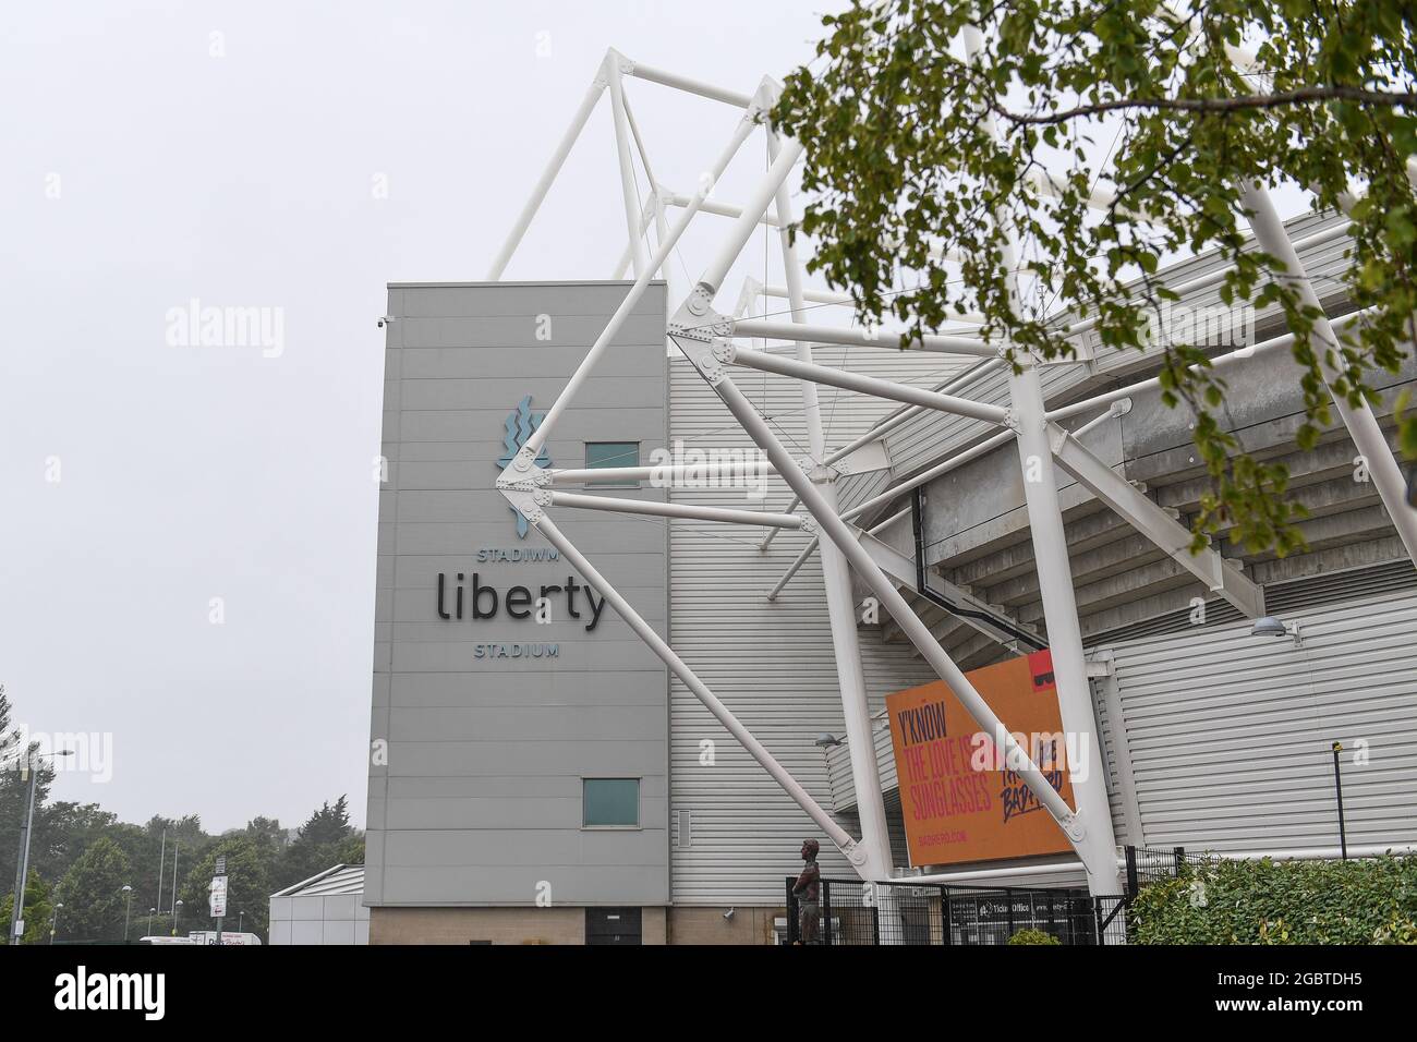
[[(767, 135), (758, 187), (655, 181), (631, 81), (740, 109), (710, 169)], [(1413, 363), (1299, 451), (1284, 318), (1231, 323), (1212, 257), (1163, 272), (1186, 325), (1145, 353), (1067, 313), (1076, 357), (1017, 370), (968, 323), (853, 327), (802, 285), (775, 91), (612, 51), (487, 281), (388, 286), (368, 941), (781, 943), (809, 838), (883, 919), (891, 880), (1115, 895), (1128, 846), (1417, 844), (1417, 512), (1389, 413)], [(621, 271), (503, 281), (602, 96)], [(1255, 191), (1319, 333), (1360, 322), (1348, 217), (1280, 223)], [(684, 285), (691, 221), (723, 245)], [(764, 230), (785, 285), (724, 285)], [(1207, 344), (1226, 428), (1288, 465), (1305, 551), (1190, 553), (1209, 481), (1161, 401), (1168, 337)]]

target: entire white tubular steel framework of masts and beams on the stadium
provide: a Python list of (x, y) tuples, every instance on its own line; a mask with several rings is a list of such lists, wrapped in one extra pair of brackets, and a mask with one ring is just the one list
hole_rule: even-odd
[[(966, 31), (964, 43), (969, 54), (978, 54), (981, 45), (978, 34), (971, 35)], [(1238, 54), (1236, 60), (1240, 62), (1246, 61), (1244, 55)], [(741, 121), (710, 169), (700, 177), (697, 190), (691, 196), (672, 191), (657, 183), (649, 172), (649, 159), (645, 153), (643, 140), (625, 98), (625, 77), (656, 82), (701, 98), (724, 102), (743, 111)], [(978, 376), (989, 369), (1006, 366), (1002, 357), (1003, 350), (996, 343), (986, 343), (968, 333), (942, 332), (907, 339), (900, 333), (859, 327), (818, 326), (806, 322), (806, 302), (809, 299), (819, 303), (843, 303), (849, 302), (849, 298), (843, 301), (839, 293), (809, 295), (802, 286), (802, 265), (796, 257), (791, 235), (794, 217), (788, 191), (788, 179), (792, 167), (802, 156), (802, 146), (792, 139), (781, 136), (768, 122), (768, 113), (779, 91), (779, 85), (765, 77), (751, 95), (737, 94), (674, 72), (642, 65), (614, 50), (606, 52), (591, 88), (571, 121), (571, 126), (557, 145), (550, 163), (533, 187), (531, 197), (514, 221), (502, 250), (495, 257), (487, 278), (490, 281), (502, 278), (509, 259), (526, 234), (541, 201), (546, 198), (597, 102), (602, 94), (608, 92), (615, 128), (615, 150), (623, 194), (626, 233), (629, 237), (629, 245), (616, 267), (616, 276), (626, 267), (632, 267), (635, 279), (625, 293), (623, 301), (567, 381), (561, 394), (547, 410), (541, 424), (527, 437), (524, 445), (497, 476), (496, 488), (506, 496), (513, 509), (526, 517), (533, 529), (540, 532), (551, 546), (581, 571), (585, 581), (611, 603), (615, 611), (669, 666), (674, 676), (777, 780), (784, 791), (843, 852), (862, 879), (873, 883), (891, 879), (894, 876), (894, 865), (857, 641), (857, 605), (852, 595), (852, 573), (854, 571), (880, 603), (880, 607), (886, 610), (901, 632), (911, 641), (921, 658), (945, 680), (981, 732), (988, 734), (999, 747), (1005, 763), (1020, 775), (1034, 798), (1061, 827), (1087, 872), (1091, 893), (1115, 895), (1119, 892), (1117, 845), (1112, 834), (1100, 743), (1093, 716), (1081, 627), (1078, 624), (1054, 466), (1071, 475), (1101, 502), (1132, 525), (1136, 532), (1148, 537), (1173, 560), (1200, 578), (1212, 593), (1230, 601), (1248, 618), (1264, 617), (1264, 591), (1247, 578), (1237, 564), (1224, 560), (1214, 549), (1207, 547), (1199, 554), (1192, 554), (1189, 550), (1192, 537), (1189, 529), (1172, 519), (1142, 492), (1117, 475), (1104, 461), (1078, 444), (1076, 432), (1070, 434), (1060, 425), (1061, 420), (1080, 415), (1084, 411), (1102, 410), (1102, 417), (1115, 414), (1115, 410), (1124, 408), (1118, 405), (1121, 400), (1138, 390), (1153, 386), (1155, 380), (1118, 388), (1105, 396), (1090, 398), (1085, 403), (1050, 411), (1039, 380), (1039, 366), (1041, 363), (1023, 356), (1016, 359), (1016, 370), (1007, 367), (1009, 405), (1002, 407), (951, 393), (965, 387), (969, 383), (968, 377)], [(990, 132), (996, 133), (992, 121), (988, 121), (988, 115), (985, 115), (985, 121), (989, 122)], [(728, 206), (717, 200), (710, 201), (708, 196), (714, 184), (758, 125), (762, 125), (768, 140), (769, 164), (767, 172), (761, 174), (750, 196), (741, 203)], [(632, 143), (650, 181), (650, 197), (645, 203), (639, 201), (636, 193)], [(1312, 288), (1299, 264), (1295, 244), (1288, 240), (1282, 224), (1274, 217), (1272, 204), (1268, 203), (1264, 190), (1261, 187), (1247, 187), (1246, 200), (1247, 207), (1254, 211), (1251, 223), (1260, 245), (1267, 252), (1280, 257), (1288, 268), (1288, 278), (1294, 279), (1301, 286), (1301, 291), (1306, 292), (1306, 296), (1312, 296)], [(1094, 204), (1098, 207), (1107, 207), (1110, 203), (1111, 200), (1105, 194), (1094, 200)], [(679, 210), (679, 215), (672, 224), (665, 218), (666, 206)], [(662, 271), (667, 272), (666, 261), (669, 255), (689, 224), (700, 213), (728, 217), (733, 224), (689, 295), (672, 312), (667, 335), (680, 347), (689, 363), (694, 366), (707, 387), (727, 405), (738, 425), (762, 449), (768, 464), (744, 465), (738, 462), (707, 464), (694, 468), (618, 468), (614, 471), (614, 475), (616, 479), (639, 481), (648, 478), (674, 486), (689, 481), (690, 476), (701, 479), (718, 475), (777, 474), (792, 491), (792, 502), (785, 512), (769, 513), (674, 502), (646, 503), (643, 500), (582, 495), (553, 488), (584, 485), (594, 479), (604, 481), (611, 474), (609, 471), (584, 469), (557, 471), (554, 468), (538, 466), (536, 458), (557, 421), (589, 379), (597, 362), (609, 349), (612, 339), (643, 296), (650, 281), (657, 278)], [(999, 220), (999, 230), (1007, 245), (1006, 254), (1012, 255), (1012, 230), (1003, 221), (1002, 215)], [(655, 248), (652, 251), (646, 248), (650, 225), (656, 228)], [(724, 278), (760, 227), (777, 227), (779, 231), (781, 259), (786, 285), (768, 288), (754, 284), (752, 286), (745, 286), (745, 291), (752, 289), (758, 295), (786, 299), (791, 312), (791, 320), (788, 322), (737, 318), (714, 308), (714, 301), (723, 288)], [(1328, 234), (1331, 233), (1321, 233), (1321, 235)], [(1207, 275), (1204, 278), (1214, 279), (1216, 276)], [(1015, 275), (1015, 279), (1017, 279), (1017, 275)], [(741, 313), (743, 309), (743, 301), (740, 301), (738, 312)], [(968, 322), (968, 318), (965, 316), (964, 320)], [(1332, 340), (1335, 337), (1333, 326), (1346, 325), (1346, 322), (1355, 318), (1357, 316), (1346, 316), (1343, 320), (1336, 320), (1332, 325), (1321, 322), (1316, 326), (1316, 332), (1321, 337)], [(1074, 325), (1081, 330), (1088, 323), (1084, 320)], [(734, 339), (748, 337), (792, 342), (795, 343), (795, 357), (734, 344)], [(1292, 342), (1292, 337), (1278, 337), (1253, 349), (1241, 349), (1221, 360), (1248, 357), (1257, 350), (1267, 350), (1289, 342)], [(952, 380), (941, 388), (931, 391), (819, 364), (813, 360), (813, 346), (819, 343), (862, 347), (908, 347), (973, 360), (973, 366), (965, 377)], [(1063, 360), (1051, 364), (1077, 364), (1077, 362)], [(806, 454), (794, 455), (774, 434), (768, 421), (734, 383), (731, 376), (734, 367), (777, 373), (799, 383), (808, 435)], [(819, 384), (839, 387), (886, 401), (903, 403), (907, 408), (886, 418), (866, 435), (843, 447), (832, 448), (826, 444), (822, 427), (818, 403)], [(1350, 435), (1359, 445), (1359, 449), (1367, 455), (1373, 482), (1389, 515), (1403, 536), (1408, 554), (1417, 556), (1417, 515), (1413, 515), (1403, 506), (1406, 488), (1403, 486), (1396, 461), (1387, 449), (1386, 441), (1382, 438), (1376, 418), (1366, 407), (1353, 410), (1343, 401), (1339, 401), (1338, 405)], [(992, 424), (999, 431), (988, 441), (965, 452), (928, 461), (924, 469), (914, 478), (886, 489), (866, 503), (856, 505), (845, 512), (839, 510), (836, 481), (849, 471), (847, 464), (843, 461), (847, 461), (847, 456), (853, 452), (871, 441), (880, 439), (886, 432), (901, 425), (911, 417), (932, 411)], [(873, 557), (870, 534), (852, 523), (853, 519), (897, 500), (903, 493), (918, 488), (934, 476), (958, 466), (966, 459), (978, 458), (982, 452), (1010, 439), (1017, 445), (1019, 462), (1024, 474), (1026, 512), (1034, 547), (1034, 563), (1039, 573), (1040, 598), (1043, 601), (1049, 646), (1053, 655), (1063, 727), (1068, 733), (1087, 736), (1088, 739), (1087, 741), (1078, 741), (1078, 749), (1084, 750), (1083, 757), (1085, 758), (1073, 760), (1070, 757), (1070, 763), (1067, 763), (1076, 808), (1070, 807), (1063, 795), (1049, 783), (1043, 770), (1030, 758), (1029, 751), (1012, 737), (1009, 729), (1005, 726), (1006, 722), (993, 713), (965, 673), (930, 632), (930, 628), (910, 608), (897, 588), (898, 580), (887, 574)], [(689, 471), (693, 474), (690, 475)], [(806, 516), (794, 513), (798, 505), (805, 509)], [(842, 696), (846, 730), (845, 744), (850, 754), (852, 777), (856, 787), (860, 838), (853, 838), (792, 777), (772, 753), (752, 736), (748, 727), (733, 715), (731, 709), (713, 693), (708, 685), (694, 673), (691, 666), (679, 658), (670, 644), (605, 580), (553, 520), (553, 509), (653, 513), (667, 517), (767, 526), (774, 533), (782, 529), (799, 529), (812, 537), (812, 543), (803, 550), (792, 570), (779, 581), (771, 595), (775, 595), (782, 584), (791, 578), (792, 573), (801, 567), (802, 560), (812, 551), (812, 546), (815, 544), (822, 554), (825, 601)], [(888, 520), (896, 520), (900, 516), (903, 515), (896, 515)], [(883, 526), (884, 522), (876, 526), (876, 530)], [(768, 542), (771, 542), (771, 533), (768, 539), (762, 540), (761, 546), (765, 549)], [(931, 876), (913, 876), (913, 879), (928, 880)], [(886, 902), (888, 896), (881, 893), (877, 896), (877, 900)]]

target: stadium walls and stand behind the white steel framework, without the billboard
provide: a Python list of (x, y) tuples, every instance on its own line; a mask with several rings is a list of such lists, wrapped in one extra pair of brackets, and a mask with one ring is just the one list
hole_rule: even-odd
[[(1291, 223), (1321, 288), (1340, 269), (1333, 218)], [(1340, 230), (1340, 228), (1339, 228)], [(1168, 274), (1197, 281), (1206, 258)], [(1203, 281), (1203, 279), (1200, 279)], [(625, 282), (398, 284), (388, 291), (378, 581), (364, 903), (370, 943), (772, 943), (784, 878), (816, 827), (616, 617), (509, 509), (493, 479), (625, 296)], [(1195, 313), (1213, 291), (1183, 299)], [(1325, 306), (1340, 318), (1336, 292)], [(557, 468), (748, 458), (755, 447), (666, 350), (653, 284), (544, 448)], [(1217, 354), (1282, 333), (1244, 316)], [(768, 350), (791, 346), (768, 344)], [(1189, 417), (1142, 386), (1161, 342), (1044, 370), (1049, 408), (1115, 474), (1186, 522), (1204, 488)], [(973, 359), (818, 347), (816, 360), (920, 387), (1002, 400)], [(1417, 844), (1417, 576), (1342, 427), (1312, 452), (1294, 430), (1298, 370), (1285, 350), (1233, 362), (1227, 425), (1289, 464), (1309, 509), (1305, 553), (1224, 547), (1264, 590), (1278, 637), (1216, 597), (1060, 474), (1097, 736), (1118, 844), (1325, 856), (1339, 845), (1332, 744), (1343, 744), (1350, 851)], [(794, 380), (744, 391), (803, 444)], [(1383, 387), (1389, 404), (1417, 383)], [(840, 481), (842, 508), (893, 556), (901, 591), (964, 668), (1046, 646), (1012, 445), (942, 414), (822, 388), (832, 445), (880, 430), (883, 466)], [(1379, 413), (1386, 431), (1391, 417)], [(887, 495), (952, 452), (983, 447), (917, 489)], [(618, 481), (588, 492), (784, 510), (778, 478), (672, 492)], [(563, 532), (809, 792), (853, 831), (849, 749), (822, 574), (809, 534), (565, 510)], [(883, 566), (884, 567), (884, 566)], [(782, 581), (788, 577), (786, 581)], [(771, 595), (769, 595), (771, 593)], [(864, 597), (864, 591), (863, 591)], [(893, 621), (859, 628), (897, 873), (910, 863), (886, 696), (935, 679)], [(819, 836), (820, 838), (820, 836)], [(822, 842), (822, 869), (852, 876)], [(1073, 855), (948, 868), (961, 880), (1078, 885)]]

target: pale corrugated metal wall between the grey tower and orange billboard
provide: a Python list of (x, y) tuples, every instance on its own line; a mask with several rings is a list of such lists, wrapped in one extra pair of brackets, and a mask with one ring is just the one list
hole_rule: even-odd
[[(932, 387), (959, 369), (945, 356), (881, 349), (820, 349), (818, 362)], [(801, 391), (795, 381), (734, 373), (743, 391), (771, 420), (778, 437), (806, 454)], [(670, 432), (689, 447), (751, 448), (713, 391), (687, 363), (670, 363)], [(842, 445), (891, 411), (890, 403), (822, 388), (829, 442)], [(765, 499), (745, 491), (676, 491), (676, 502), (750, 505), (781, 510), (791, 492), (779, 479)], [(775, 603), (765, 598), (806, 542), (784, 532), (767, 553), (762, 529), (674, 520), (670, 529), (670, 628), (676, 651), (752, 733), (823, 805), (832, 791), (822, 732), (842, 734), (836, 663), (822, 600), (816, 556)], [(862, 631), (867, 686), (876, 705), (887, 692), (931, 679), (910, 645), (887, 645)], [(670, 885), (680, 904), (769, 904), (782, 902), (782, 878), (801, 868), (798, 848), (818, 835), (811, 819), (728, 736), (677, 680), (670, 705), (672, 821), (676, 822)], [(706, 763), (701, 743), (713, 743)], [(847, 825), (856, 831), (854, 822)], [(820, 838), (820, 836), (819, 836)], [(853, 875), (823, 842), (828, 875)]]

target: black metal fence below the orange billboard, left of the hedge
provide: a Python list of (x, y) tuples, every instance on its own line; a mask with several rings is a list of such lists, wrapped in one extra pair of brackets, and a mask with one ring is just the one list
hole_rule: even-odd
[[(802, 904), (786, 878), (788, 944), (1007, 944), (1037, 930), (1060, 944), (1125, 944), (1124, 895), (1084, 890), (823, 879), (816, 937), (802, 937)], [(808, 921), (808, 931), (811, 924)]]

